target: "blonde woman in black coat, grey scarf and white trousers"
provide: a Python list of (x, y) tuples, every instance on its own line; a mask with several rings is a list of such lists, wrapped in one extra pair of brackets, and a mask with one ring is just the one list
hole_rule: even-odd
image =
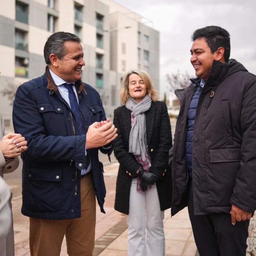
[(128, 256), (164, 256), (164, 210), (171, 207), (172, 195), (167, 107), (140, 70), (123, 78), (120, 100), (124, 106), (114, 111), (114, 154), (120, 163), (115, 210), (128, 214)]

